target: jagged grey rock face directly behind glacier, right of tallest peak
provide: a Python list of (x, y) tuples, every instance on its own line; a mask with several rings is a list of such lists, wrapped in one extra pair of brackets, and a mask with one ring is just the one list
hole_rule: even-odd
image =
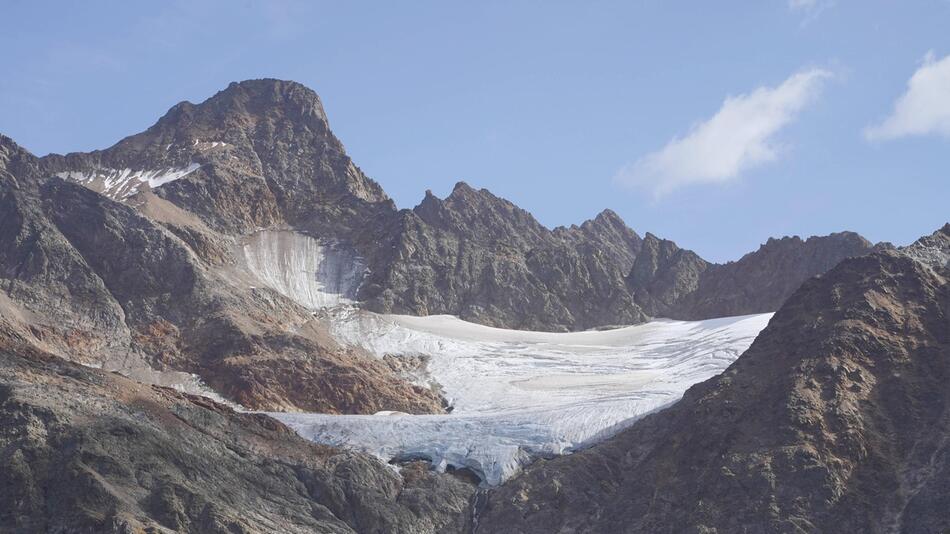
[(444, 200), (427, 193), (401, 224), (393, 257), (363, 293), (370, 309), (534, 330), (645, 319), (623, 282), (640, 238), (613, 212), (552, 231), (459, 183)]

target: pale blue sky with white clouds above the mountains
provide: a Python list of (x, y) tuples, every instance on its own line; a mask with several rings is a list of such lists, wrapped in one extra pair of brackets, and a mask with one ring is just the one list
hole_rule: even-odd
[(111, 146), (231, 81), (323, 100), (399, 207), (464, 180), (711, 261), (950, 220), (950, 0), (4, 0), (0, 133)]

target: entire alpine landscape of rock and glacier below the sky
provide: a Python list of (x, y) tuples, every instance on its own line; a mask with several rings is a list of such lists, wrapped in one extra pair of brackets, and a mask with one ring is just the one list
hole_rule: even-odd
[(948, 278), (397, 209), (290, 81), (0, 135), (0, 532), (945, 532)]

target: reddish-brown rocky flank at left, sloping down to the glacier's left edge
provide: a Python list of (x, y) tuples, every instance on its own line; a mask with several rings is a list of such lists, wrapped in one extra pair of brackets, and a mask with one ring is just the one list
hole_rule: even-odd
[(308, 310), (242, 282), (233, 241), (201, 220), (172, 204), (176, 222), (153, 219), (49, 176), (8, 138), (0, 149), (0, 318), (17, 338), (153, 381), (194, 373), (249, 408), (442, 410)]

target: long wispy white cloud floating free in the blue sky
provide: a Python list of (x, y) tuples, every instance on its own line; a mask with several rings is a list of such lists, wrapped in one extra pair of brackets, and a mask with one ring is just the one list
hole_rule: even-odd
[(822, 69), (805, 70), (777, 87), (727, 97), (709, 120), (625, 166), (615, 179), (652, 190), (657, 197), (690, 184), (734, 180), (778, 157), (781, 149), (773, 138), (814, 100), (830, 76)]

